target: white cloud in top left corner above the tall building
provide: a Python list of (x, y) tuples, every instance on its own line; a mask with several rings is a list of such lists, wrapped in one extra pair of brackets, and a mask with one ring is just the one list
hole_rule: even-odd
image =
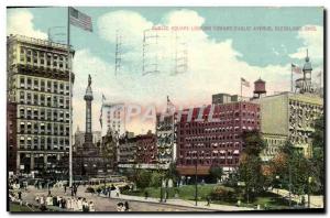
[(33, 14), (28, 9), (11, 9), (7, 14), (7, 34), (20, 34), (45, 40), (47, 34), (36, 30)]

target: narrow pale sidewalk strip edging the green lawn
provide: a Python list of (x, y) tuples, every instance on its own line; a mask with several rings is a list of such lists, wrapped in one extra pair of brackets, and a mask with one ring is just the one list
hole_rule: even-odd
[[(100, 197), (107, 198), (105, 195), (100, 195)], [(174, 206), (183, 206), (183, 207), (193, 207), (193, 208), (200, 208), (200, 209), (207, 209), (207, 210), (221, 210), (221, 211), (239, 211), (239, 210), (253, 210), (251, 207), (237, 207), (237, 206), (229, 206), (229, 205), (217, 205), (211, 204), (210, 206), (207, 206), (207, 201), (198, 201), (197, 206), (195, 206), (194, 200), (184, 200), (184, 199), (167, 199), (166, 203), (160, 203), (160, 198), (152, 198), (148, 197), (145, 199), (145, 197), (141, 196), (131, 196), (131, 195), (120, 195), (119, 197), (111, 196), (113, 199), (122, 199), (122, 200), (134, 200), (134, 201), (143, 201), (143, 203), (157, 203), (163, 205), (174, 205)]]

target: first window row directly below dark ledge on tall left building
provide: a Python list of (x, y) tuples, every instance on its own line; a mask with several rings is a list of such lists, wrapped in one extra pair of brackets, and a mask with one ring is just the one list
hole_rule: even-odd
[(21, 76), (19, 79), (19, 88), (38, 90), (44, 92), (54, 92), (54, 94), (69, 94), (69, 84), (68, 81), (58, 81), (58, 80), (45, 80), (41, 78), (24, 77)]

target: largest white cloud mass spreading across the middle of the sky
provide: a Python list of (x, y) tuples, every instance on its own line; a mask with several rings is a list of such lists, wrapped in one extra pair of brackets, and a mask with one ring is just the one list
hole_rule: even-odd
[[(158, 23), (153, 23), (136, 12), (116, 11), (106, 13), (98, 20), (99, 34), (109, 43), (116, 43), (116, 30), (120, 28), (123, 36), (123, 67), (119, 75), (114, 76), (113, 64), (106, 63), (91, 54), (88, 50), (77, 51), (76, 72), (84, 77), (84, 86), (87, 83), (87, 74), (92, 75), (95, 106), (94, 120), (98, 120), (98, 108), (101, 105), (101, 94), (112, 102), (140, 103), (142, 106), (155, 105), (161, 109), (166, 103), (166, 96), (176, 106), (191, 107), (211, 102), (211, 95), (228, 92), (240, 95), (240, 78), (251, 83), (250, 88), (243, 88), (243, 96), (252, 96), (253, 81), (260, 77), (266, 80), (267, 94), (290, 89), (290, 64), (267, 65), (265, 67), (252, 66), (242, 61), (242, 54), (234, 50), (232, 40), (215, 41), (204, 31), (167, 31), (157, 32), (160, 41), (157, 47), (150, 48), (148, 55), (156, 52), (160, 74), (142, 76), (142, 43), (143, 31), (154, 25), (164, 26), (200, 26), (205, 19), (193, 10), (175, 10), (165, 14)], [(318, 29), (320, 31), (320, 29)], [(299, 39), (310, 48), (310, 55), (318, 56), (320, 45), (318, 40), (322, 35), (317, 31), (312, 35), (299, 33)], [(175, 37), (178, 36), (186, 43), (188, 52), (188, 70), (184, 74), (173, 75), (173, 53), (175, 52)], [(152, 44), (152, 43), (150, 43)], [(304, 44), (305, 45), (305, 44)], [(284, 45), (279, 50), (286, 50)], [(300, 55), (301, 48), (294, 57)], [(273, 51), (278, 52), (278, 51)], [(315, 53), (315, 54), (314, 54)], [(150, 58), (153, 56), (151, 55)], [(320, 55), (319, 55), (320, 57)], [(77, 80), (77, 84), (80, 83)], [(86, 87), (81, 87), (85, 89)], [(84, 92), (84, 91), (82, 91)], [(82, 94), (80, 91), (80, 101)], [(80, 103), (79, 106), (82, 106)], [(82, 111), (78, 111), (82, 112)], [(85, 115), (85, 113), (84, 113)], [(79, 118), (80, 119), (80, 118)], [(81, 120), (85, 120), (81, 116)], [(98, 121), (96, 121), (98, 122)], [(94, 126), (99, 128), (99, 126)], [(128, 126), (130, 131), (145, 131), (150, 126), (133, 123)], [(146, 128), (147, 127), (147, 128)]]

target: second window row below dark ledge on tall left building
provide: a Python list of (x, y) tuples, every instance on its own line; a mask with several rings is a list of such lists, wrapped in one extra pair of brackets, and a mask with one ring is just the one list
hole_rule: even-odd
[(20, 91), (19, 102), (24, 105), (46, 106), (54, 108), (69, 108), (69, 97), (45, 95), (33, 91)]

